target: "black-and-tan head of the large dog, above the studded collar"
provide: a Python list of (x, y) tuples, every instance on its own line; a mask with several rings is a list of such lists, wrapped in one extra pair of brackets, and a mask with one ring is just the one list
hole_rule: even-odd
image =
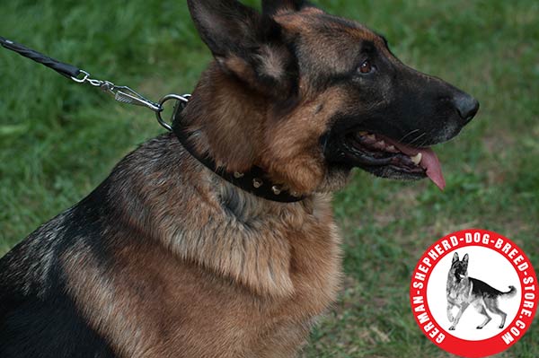
[(470, 95), (393, 56), (384, 37), (299, 0), (188, 0), (216, 61), (185, 109), (199, 147), (226, 170), (258, 165), (300, 193), (354, 167), (445, 183), (430, 145), (476, 114)]

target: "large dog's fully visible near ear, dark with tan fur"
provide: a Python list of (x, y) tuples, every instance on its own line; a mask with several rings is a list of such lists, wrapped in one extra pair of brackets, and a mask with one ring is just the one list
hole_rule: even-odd
[(288, 94), (293, 58), (282, 29), (236, 0), (188, 0), (200, 37), (228, 74), (254, 90)]

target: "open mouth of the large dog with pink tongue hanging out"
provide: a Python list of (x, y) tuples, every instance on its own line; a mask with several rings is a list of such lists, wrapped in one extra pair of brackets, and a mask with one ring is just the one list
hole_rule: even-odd
[(355, 166), (378, 176), (402, 179), (429, 177), (441, 190), (446, 187), (440, 162), (430, 148), (402, 144), (366, 131), (347, 134), (342, 144), (347, 152), (345, 155)]

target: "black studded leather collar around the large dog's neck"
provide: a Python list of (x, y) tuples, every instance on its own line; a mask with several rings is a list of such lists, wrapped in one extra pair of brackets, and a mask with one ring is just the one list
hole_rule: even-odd
[(260, 167), (252, 166), (251, 170), (245, 172), (229, 172), (218, 168), (216, 162), (207, 156), (199, 156), (189, 141), (189, 134), (181, 124), (181, 111), (184, 105), (177, 105), (172, 115), (172, 132), (178, 137), (183, 147), (199, 162), (204, 164), (209, 170), (213, 171), (219, 177), (234, 184), (234, 186), (251, 193), (254, 196), (263, 197), (270, 201), (279, 203), (295, 203), (303, 200), (305, 196), (300, 196), (295, 192), (281, 188), (273, 183), (266, 171)]

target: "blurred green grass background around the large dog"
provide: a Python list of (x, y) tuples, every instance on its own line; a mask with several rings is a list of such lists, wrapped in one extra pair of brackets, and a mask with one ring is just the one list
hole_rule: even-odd
[[(340, 301), (305, 357), (448, 357), (422, 336), (408, 286), (434, 240), (468, 227), (515, 240), (539, 267), (539, 3), (320, 0), (384, 33), (393, 52), (481, 101), (437, 148), (447, 188), (356, 172), (335, 198), (345, 237)], [(250, 1), (249, 4), (255, 4)], [(3, 2), (0, 35), (128, 84), (151, 99), (190, 92), (210, 54), (171, 0)], [(0, 49), (0, 255), (75, 204), (119, 159), (163, 130), (121, 105)], [(539, 325), (499, 357), (539, 356)]]

